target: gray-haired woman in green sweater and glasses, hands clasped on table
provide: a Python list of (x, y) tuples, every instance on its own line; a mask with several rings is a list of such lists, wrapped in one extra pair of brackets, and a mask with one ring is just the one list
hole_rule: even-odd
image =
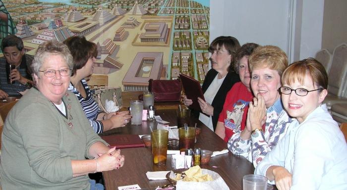
[(93, 131), (76, 96), (67, 90), (72, 61), (62, 43), (38, 47), (31, 65), (36, 86), (4, 123), (3, 190), (90, 190), (89, 173), (123, 166), (120, 150), (110, 149)]

